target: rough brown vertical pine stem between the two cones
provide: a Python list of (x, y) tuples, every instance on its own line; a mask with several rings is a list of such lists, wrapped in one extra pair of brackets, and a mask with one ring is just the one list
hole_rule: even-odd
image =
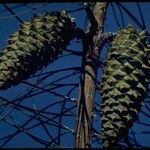
[[(104, 19), (107, 3), (97, 2), (93, 10), (98, 26), (92, 24), (85, 45), (82, 61), (82, 76), (79, 89), (77, 128), (76, 128), (76, 148), (90, 148), (92, 137), (93, 107), (95, 95), (95, 80), (98, 69), (99, 45), (98, 41), (103, 33)], [(96, 29), (94, 29), (96, 28)], [(91, 42), (92, 41), (92, 42)], [(89, 43), (86, 43), (89, 42)]]

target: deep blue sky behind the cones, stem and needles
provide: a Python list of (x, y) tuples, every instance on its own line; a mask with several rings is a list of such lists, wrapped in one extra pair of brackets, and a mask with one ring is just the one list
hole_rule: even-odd
[[(105, 22), (105, 31), (117, 32), (118, 28), (134, 25), (140, 31), (145, 27), (150, 30), (150, 3), (121, 3), (124, 7), (118, 7), (112, 3), (108, 7)], [(34, 4), (7, 4), (11, 10), (23, 21), (30, 21), (33, 14), (41, 15), (46, 11), (60, 11), (66, 9), (69, 15), (75, 18), (76, 24), (86, 29), (88, 20), (81, 3), (34, 3)], [(81, 8), (80, 11), (73, 11)], [(141, 8), (141, 9), (140, 9)], [(141, 12), (140, 12), (141, 11)], [(143, 14), (143, 15), (142, 15)], [(9, 35), (18, 30), (20, 22), (0, 4), (0, 49), (7, 45)], [(104, 47), (101, 58), (105, 58)], [(5, 107), (0, 115), (0, 147), (46, 147), (48, 145), (61, 145), (74, 147), (74, 130), (76, 117), (76, 99), (78, 97), (79, 70), (81, 56), (69, 52), (82, 51), (80, 40), (71, 41), (67, 50), (59, 58), (46, 68), (31, 76), (27, 83), (20, 83), (6, 91), (0, 91), (0, 97), (6, 99)], [(62, 69), (66, 68), (65, 71)], [(70, 68), (70, 69), (67, 69)], [(102, 75), (98, 72), (98, 80)], [(43, 81), (37, 84), (40, 79)], [(34, 85), (48, 90), (41, 90)], [(56, 88), (55, 88), (56, 87)], [(72, 91), (71, 91), (72, 89)], [(53, 92), (53, 93), (52, 93)], [(54, 94), (55, 92), (55, 94)], [(100, 104), (99, 91), (96, 93), (95, 107)], [(61, 96), (56, 96), (56, 93)], [(35, 95), (33, 95), (35, 94)], [(68, 99), (69, 97), (70, 99)], [(12, 105), (11, 102), (14, 102)], [(139, 120), (135, 122), (129, 133), (129, 141), (132, 145), (150, 147), (150, 101), (145, 100), (145, 107), (139, 114)], [(47, 107), (47, 108), (46, 108)], [(37, 115), (36, 113), (39, 113)], [(95, 137), (92, 139), (93, 147), (101, 147), (101, 141), (96, 139), (100, 129), (99, 114), (95, 112), (94, 129)], [(18, 128), (22, 129), (18, 130)]]

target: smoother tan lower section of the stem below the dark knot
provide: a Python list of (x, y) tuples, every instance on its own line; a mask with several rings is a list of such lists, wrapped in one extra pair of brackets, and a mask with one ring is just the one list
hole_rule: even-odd
[[(90, 66), (85, 67), (84, 89), (80, 86), (80, 97), (78, 101), (78, 118), (76, 147), (89, 148), (92, 136), (93, 104), (95, 84), (95, 71)], [(82, 91), (84, 90), (84, 91)], [(81, 93), (82, 92), (82, 93)]]

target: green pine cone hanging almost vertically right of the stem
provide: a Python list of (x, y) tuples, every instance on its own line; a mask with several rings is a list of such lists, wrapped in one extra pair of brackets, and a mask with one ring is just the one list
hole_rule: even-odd
[(105, 148), (114, 146), (128, 134), (137, 118), (148, 87), (146, 33), (129, 25), (112, 41), (102, 78), (102, 130)]

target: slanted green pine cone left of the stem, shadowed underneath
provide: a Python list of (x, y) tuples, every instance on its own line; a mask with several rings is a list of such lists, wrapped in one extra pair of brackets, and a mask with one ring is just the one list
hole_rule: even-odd
[(10, 35), (0, 56), (0, 90), (47, 66), (75, 37), (75, 23), (65, 11), (34, 16)]

